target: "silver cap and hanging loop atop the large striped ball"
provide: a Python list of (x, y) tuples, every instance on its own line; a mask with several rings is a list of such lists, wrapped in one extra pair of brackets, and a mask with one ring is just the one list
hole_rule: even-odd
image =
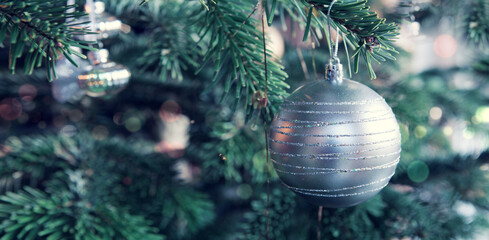
[[(328, 8), (328, 31), (329, 31), (329, 39), (330, 43), (333, 43), (333, 36), (331, 35), (331, 8), (335, 4), (336, 0), (333, 0)], [(340, 63), (340, 59), (338, 58), (338, 43), (339, 43), (339, 29), (336, 27), (336, 41), (333, 45), (332, 49), (332, 57), (329, 59), (329, 63), (326, 66), (326, 80), (332, 83), (341, 83), (343, 81), (343, 65)]]

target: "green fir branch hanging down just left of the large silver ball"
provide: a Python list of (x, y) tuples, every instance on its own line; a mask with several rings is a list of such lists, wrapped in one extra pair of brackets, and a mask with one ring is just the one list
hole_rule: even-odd
[(237, 103), (244, 95), (248, 113), (269, 104), (272, 111), (266, 111), (271, 117), (277, 104), (287, 96), (287, 74), (270, 52), (266, 58), (269, 72), (265, 72), (262, 33), (256, 20), (248, 18), (253, 7), (250, 1), (209, 2), (210, 10), (199, 16), (204, 20), (200, 36), (209, 41), (202, 67), (211, 61), (216, 70), (209, 90), (223, 82), (222, 99), (234, 92)]

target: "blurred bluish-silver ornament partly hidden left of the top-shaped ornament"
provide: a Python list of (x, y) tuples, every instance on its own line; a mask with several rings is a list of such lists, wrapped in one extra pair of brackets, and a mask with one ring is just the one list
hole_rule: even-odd
[[(75, 51), (77, 50), (75, 49)], [(88, 63), (78, 57), (73, 58), (73, 60), (78, 64), (78, 67), (64, 56), (56, 61), (55, 68), (58, 78), (51, 83), (51, 92), (54, 99), (61, 103), (83, 96), (83, 90), (78, 85), (78, 75)]]

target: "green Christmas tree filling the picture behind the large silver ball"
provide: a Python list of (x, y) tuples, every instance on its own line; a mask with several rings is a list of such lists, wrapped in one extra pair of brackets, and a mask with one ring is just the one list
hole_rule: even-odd
[(380, 194), (318, 222), (267, 164), (331, 2), (0, 0), (0, 239), (486, 239), (485, 0), (333, 6), (345, 75), (401, 129)]

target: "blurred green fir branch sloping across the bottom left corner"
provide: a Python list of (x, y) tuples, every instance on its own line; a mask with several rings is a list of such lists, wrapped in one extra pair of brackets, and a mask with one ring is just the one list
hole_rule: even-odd
[(26, 187), (0, 197), (2, 240), (8, 239), (164, 239), (136, 215), (110, 205), (63, 198)]

